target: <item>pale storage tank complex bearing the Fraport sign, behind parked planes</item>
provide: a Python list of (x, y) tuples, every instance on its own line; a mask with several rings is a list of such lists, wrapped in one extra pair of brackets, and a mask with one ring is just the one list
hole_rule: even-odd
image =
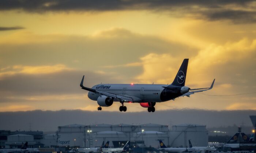
[(208, 145), (208, 131), (205, 125), (176, 125), (169, 130), (168, 125), (159, 124), (97, 124), (97, 125), (66, 125), (59, 126), (56, 133), (57, 145), (97, 147), (103, 141), (110, 141), (109, 146), (120, 147), (128, 140), (137, 146), (159, 148), (158, 140), (166, 146), (188, 146), (190, 139), (195, 146)]

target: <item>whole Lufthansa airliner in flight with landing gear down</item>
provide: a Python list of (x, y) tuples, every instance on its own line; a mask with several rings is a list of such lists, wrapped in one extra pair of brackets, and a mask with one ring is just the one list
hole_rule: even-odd
[(184, 59), (171, 85), (98, 84), (88, 88), (83, 86), (83, 76), (80, 87), (89, 91), (88, 97), (91, 100), (97, 101), (99, 105), (98, 110), (102, 110), (102, 107), (111, 106), (115, 101), (121, 103), (120, 111), (127, 111), (124, 103), (129, 102), (140, 103), (140, 106), (147, 108), (148, 112), (155, 112), (154, 106), (157, 102), (175, 100), (175, 98), (184, 96), (190, 97), (191, 94), (212, 89), (215, 79), (211, 87), (208, 88), (190, 89), (185, 86), (187, 67), (188, 59)]

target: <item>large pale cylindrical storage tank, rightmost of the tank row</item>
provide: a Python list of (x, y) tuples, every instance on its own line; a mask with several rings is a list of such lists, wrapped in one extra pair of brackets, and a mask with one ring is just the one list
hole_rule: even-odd
[(171, 147), (189, 147), (191, 141), (193, 146), (208, 145), (208, 131), (206, 125), (183, 124), (174, 125), (170, 131)]

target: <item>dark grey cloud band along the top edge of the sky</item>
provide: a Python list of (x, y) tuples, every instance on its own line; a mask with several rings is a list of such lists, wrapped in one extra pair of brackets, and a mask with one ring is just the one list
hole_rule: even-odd
[(21, 9), (27, 12), (48, 11), (165, 11), (172, 16), (192, 16), (208, 20), (231, 20), (234, 23), (255, 23), (255, 1), (253, 0), (1, 0), (0, 10)]

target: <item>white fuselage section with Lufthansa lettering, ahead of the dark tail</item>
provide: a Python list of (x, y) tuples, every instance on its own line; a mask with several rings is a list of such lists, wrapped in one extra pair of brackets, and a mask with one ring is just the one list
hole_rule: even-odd
[[(144, 84), (99, 84), (92, 89), (104, 91), (112, 94), (133, 97), (133, 102), (162, 102), (160, 95), (165, 89), (163, 86), (168, 85), (144, 85)], [(163, 92), (163, 94), (166, 94)], [(100, 94), (93, 92), (88, 93), (91, 100), (97, 101)], [(120, 101), (114, 99), (114, 101)]]

